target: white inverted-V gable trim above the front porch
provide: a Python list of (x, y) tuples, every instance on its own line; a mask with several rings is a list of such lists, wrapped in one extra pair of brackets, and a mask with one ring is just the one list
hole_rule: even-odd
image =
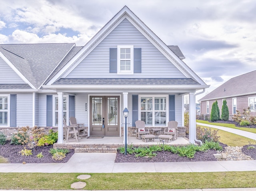
[[(202, 88), (207, 86), (162, 40), (155, 35), (127, 6), (124, 6), (48, 83), (65, 78), (76, 66), (124, 19), (142, 33), (177, 69), (187, 78), (197, 81)], [(175, 47), (176, 49), (176, 47)], [(176, 51), (178, 51), (176, 49)], [(183, 54), (182, 54), (183, 55)]]

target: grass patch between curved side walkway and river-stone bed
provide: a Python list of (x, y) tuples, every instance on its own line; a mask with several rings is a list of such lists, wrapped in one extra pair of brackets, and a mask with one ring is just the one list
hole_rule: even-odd
[[(200, 126), (202, 128), (209, 128), (207, 126), (201, 126), (201, 125), (197, 125)], [(248, 144), (256, 144), (256, 141), (244, 136), (240, 136), (234, 133), (230, 133), (230, 132), (226, 132), (220, 129), (216, 129), (216, 128), (211, 128), (212, 130), (218, 130), (218, 136), (220, 136), (220, 142), (227, 144), (228, 146), (238, 146), (238, 147), (242, 147), (244, 145), (248, 145)]]

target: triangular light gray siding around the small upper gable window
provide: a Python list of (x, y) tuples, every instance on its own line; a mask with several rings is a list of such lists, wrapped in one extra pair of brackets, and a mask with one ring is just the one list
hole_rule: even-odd
[[(109, 72), (109, 48), (134, 45), (142, 48), (142, 73), (117, 75)], [(185, 78), (166, 57), (128, 20), (122, 21), (67, 78)]]

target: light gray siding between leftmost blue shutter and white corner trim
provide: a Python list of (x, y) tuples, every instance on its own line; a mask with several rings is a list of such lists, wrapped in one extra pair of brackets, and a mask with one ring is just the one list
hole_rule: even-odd
[(33, 125), (33, 93), (17, 94), (17, 127)]

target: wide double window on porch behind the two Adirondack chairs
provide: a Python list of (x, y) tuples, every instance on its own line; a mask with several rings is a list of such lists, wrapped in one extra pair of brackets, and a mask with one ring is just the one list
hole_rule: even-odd
[(166, 95), (141, 95), (139, 118), (146, 126), (166, 126), (168, 103)]

